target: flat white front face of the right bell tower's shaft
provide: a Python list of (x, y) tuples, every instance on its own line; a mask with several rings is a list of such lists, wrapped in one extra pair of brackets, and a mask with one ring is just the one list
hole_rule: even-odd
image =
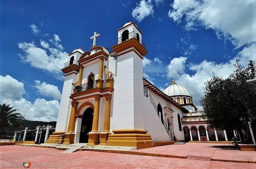
[(115, 94), (112, 96), (114, 116), (110, 119), (110, 123), (115, 123), (115, 129), (134, 129), (134, 57), (139, 56), (129, 52), (118, 56), (116, 60)]

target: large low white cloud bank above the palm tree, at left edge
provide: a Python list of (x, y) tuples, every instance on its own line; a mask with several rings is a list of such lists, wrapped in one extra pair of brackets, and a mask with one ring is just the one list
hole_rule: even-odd
[(36, 99), (34, 103), (22, 98), (24, 84), (6, 75), (0, 75), (0, 104), (11, 104), (27, 120), (56, 121), (60, 107), (58, 100)]

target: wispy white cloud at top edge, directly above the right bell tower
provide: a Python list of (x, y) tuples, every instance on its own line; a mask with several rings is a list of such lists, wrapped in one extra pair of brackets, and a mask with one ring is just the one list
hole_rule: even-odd
[(151, 0), (141, 0), (139, 4), (137, 4), (137, 6), (132, 10), (132, 17), (139, 22), (142, 21), (145, 17), (153, 14), (154, 10)]

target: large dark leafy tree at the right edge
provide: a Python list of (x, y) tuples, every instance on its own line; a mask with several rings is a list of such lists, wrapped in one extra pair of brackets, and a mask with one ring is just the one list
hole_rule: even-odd
[(248, 143), (248, 121), (256, 120), (256, 83), (246, 82), (254, 77), (249, 68), (240, 67), (238, 61), (234, 66), (236, 70), (227, 79), (213, 74), (205, 83), (200, 102), (208, 124), (220, 130), (239, 130)]

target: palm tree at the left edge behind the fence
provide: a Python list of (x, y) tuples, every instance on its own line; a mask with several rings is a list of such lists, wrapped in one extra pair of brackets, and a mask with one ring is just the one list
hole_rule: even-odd
[[(14, 106), (13, 106), (14, 107)], [(0, 104), (0, 130), (5, 127), (23, 128), (23, 122), (20, 119), (25, 119), (20, 113), (15, 113), (18, 109), (12, 109), (9, 105)]]

